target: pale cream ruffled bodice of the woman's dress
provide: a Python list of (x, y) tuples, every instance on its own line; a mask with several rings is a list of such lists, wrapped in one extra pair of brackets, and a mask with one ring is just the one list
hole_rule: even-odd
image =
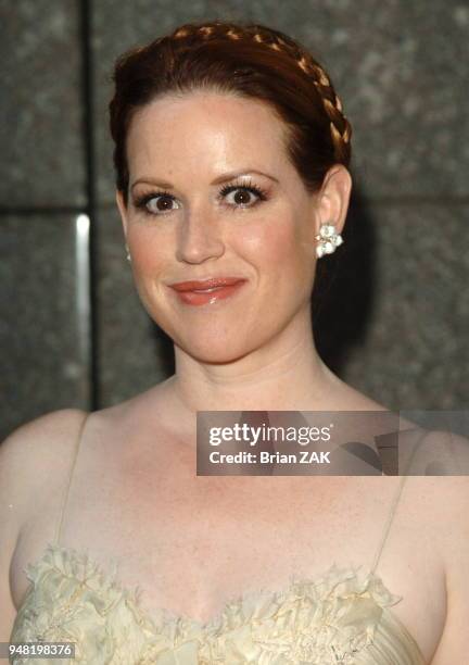
[(126, 665), (130, 654), (139, 665), (354, 663), (373, 644), (383, 611), (402, 600), (362, 566), (334, 563), (314, 580), (293, 575), (279, 591), (242, 593), (203, 623), (165, 608), (150, 613), (140, 588), (127, 589), (116, 579), (116, 566), (104, 572), (73, 548), (49, 543), (26, 575), (34, 599), (26, 598), (18, 613), (15, 641), (39, 629), (50, 641), (60, 636), (87, 644), (88, 658), (96, 636), (96, 663)]

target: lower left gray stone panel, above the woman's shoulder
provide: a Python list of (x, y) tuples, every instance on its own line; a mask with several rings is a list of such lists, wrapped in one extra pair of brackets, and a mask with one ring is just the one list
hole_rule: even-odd
[(77, 312), (75, 219), (3, 216), (2, 435), (25, 419), (85, 405), (88, 363)]

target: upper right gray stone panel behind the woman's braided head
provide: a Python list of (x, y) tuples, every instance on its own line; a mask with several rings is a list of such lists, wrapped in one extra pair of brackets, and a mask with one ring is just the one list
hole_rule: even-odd
[(279, 3), (94, 4), (99, 179), (112, 200), (110, 76), (124, 50), (204, 18), (265, 23), (300, 39), (328, 70), (353, 129), (354, 171), (368, 197), (467, 196), (469, 8), (462, 2), (301, 0)]

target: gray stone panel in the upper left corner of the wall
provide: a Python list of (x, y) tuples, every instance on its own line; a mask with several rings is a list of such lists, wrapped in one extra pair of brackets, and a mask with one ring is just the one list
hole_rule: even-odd
[(0, 23), (0, 205), (83, 205), (78, 3), (2, 0)]

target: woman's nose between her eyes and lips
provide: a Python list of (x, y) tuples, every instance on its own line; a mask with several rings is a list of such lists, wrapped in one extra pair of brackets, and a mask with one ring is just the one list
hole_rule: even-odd
[(187, 263), (202, 263), (218, 259), (225, 252), (219, 225), (207, 209), (191, 211), (179, 228), (176, 259)]

